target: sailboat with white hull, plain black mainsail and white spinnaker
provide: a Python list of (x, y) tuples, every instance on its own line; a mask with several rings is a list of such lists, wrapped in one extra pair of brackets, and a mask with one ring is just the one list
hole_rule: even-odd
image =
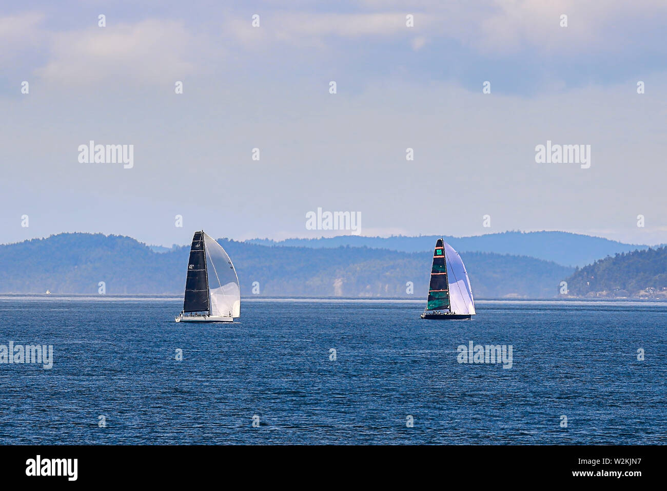
[(183, 311), (176, 322), (233, 322), (241, 315), (241, 290), (225, 249), (203, 230), (190, 247)]

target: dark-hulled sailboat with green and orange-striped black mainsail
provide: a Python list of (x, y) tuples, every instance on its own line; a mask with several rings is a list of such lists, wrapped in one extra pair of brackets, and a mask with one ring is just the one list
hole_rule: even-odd
[(433, 253), (428, 300), (422, 319), (470, 319), (475, 315), (470, 279), (460, 255), (439, 238)]

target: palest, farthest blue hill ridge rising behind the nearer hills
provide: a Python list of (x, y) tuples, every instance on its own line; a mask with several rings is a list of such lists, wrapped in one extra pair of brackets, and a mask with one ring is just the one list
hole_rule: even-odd
[[(288, 238), (274, 241), (267, 238), (246, 240), (253, 244), (287, 247), (372, 247), (416, 253), (430, 251), (440, 235), (366, 237), (342, 235), (331, 238)], [(486, 252), (528, 256), (554, 261), (564, 266), (583, 267), (598, 259), (616, 253), (648, 249), (648, 245), (633, 245), (608, 238), (593, 237), (571, 232), (500, 232), (468, 237), (444, 236), (458, 252)]]

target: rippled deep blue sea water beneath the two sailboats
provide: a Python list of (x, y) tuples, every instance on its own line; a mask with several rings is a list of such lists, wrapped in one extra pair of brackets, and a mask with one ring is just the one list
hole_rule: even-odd
[[(422, 321), (423, 303), (265, 299), (222, 325), (174, 323), (181, 305), (1, 298), (0, 344), (53, 345), (53, 368), (0, 364), (0, 444), (667, 443), (667, 304)], [(512, 368), (458, 363), (469, 341), (512, 345)]]

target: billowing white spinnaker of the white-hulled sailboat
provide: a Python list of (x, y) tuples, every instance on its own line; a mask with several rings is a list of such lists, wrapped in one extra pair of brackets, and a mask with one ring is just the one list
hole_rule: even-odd
[(241, 315), (241, 290), (234, 265), (225, 249), (204, 232), (206, 245), (206, 269), (211, 294), (213, 317), (239, 317)]

